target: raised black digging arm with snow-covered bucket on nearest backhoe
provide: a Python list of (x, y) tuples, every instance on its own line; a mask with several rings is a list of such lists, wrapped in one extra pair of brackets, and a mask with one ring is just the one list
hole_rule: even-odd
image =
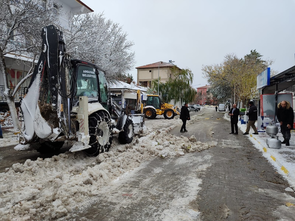
[(38, 138), (56, 141), (58, 136), (76, 137), (70, 118), (71, 88), (75, 90), (76, 82), (75, 76), (70, 81), (70, 67), (63, 32), (53, 25), (44, 27), (40, 58), (20, 102), (25, 125), (20, 144)]

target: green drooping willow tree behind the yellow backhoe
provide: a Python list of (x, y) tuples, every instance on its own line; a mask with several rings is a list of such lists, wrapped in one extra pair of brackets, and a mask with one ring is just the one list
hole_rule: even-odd
[[(164, 83), (159, 81), (159, 94), (162, 95), (163, 102), (170, 103), (171, 100), (181, 103), (192, 102), (196, 95), (196, 89), (191, 87), (194, 79), (191, 69), (179, 69), (173, 66), (170, 70), (170, 78)], [(158, 90), (158, 79), (152, 81), (150, 90)]]

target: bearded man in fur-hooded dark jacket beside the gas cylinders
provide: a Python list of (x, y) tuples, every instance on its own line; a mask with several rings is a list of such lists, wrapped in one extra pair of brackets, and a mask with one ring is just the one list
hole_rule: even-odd
[(282, 144), (290, 146), (291, 133), (290, 130), (293, 129), (294, 123), (294, 112), (291, 108), (290, 102), (283, 100), (278, 104), (277, 118), (281, 123), (281, 133), (283, 134), (284, 141)]

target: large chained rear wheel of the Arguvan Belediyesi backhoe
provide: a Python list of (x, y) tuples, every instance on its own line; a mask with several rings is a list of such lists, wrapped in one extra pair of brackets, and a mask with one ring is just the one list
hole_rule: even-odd
[(111, 118), (107, 113), (97, 111), (88, 117), (88, 124), (89, 145), (91, 148), (85, 149), (85, 152), (97, 156), (104, 151), (108, 151), (112, 144)]

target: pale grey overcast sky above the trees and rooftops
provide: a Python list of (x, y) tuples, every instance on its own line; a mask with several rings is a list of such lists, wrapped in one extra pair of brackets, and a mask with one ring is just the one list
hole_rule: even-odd
[(294, 66), (294, 0), (82, 0), (96, 13), (119, 23), (135, 43), (135, 67), (175, 61), (190, 68), (194, 83), (207, 84), (202, 65), (221, 63), (256, 49), (273, 59), (279, 73)]

